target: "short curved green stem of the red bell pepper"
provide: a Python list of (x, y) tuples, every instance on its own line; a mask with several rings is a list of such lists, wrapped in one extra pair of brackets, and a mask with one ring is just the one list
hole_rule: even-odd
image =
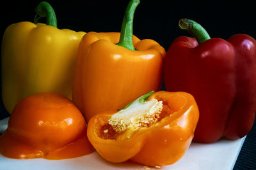
[(179, 20), (179, 27), (180, 29), (187, 30), (192, 36), (194, 36), (198, 44), (203, 43), (207, 39), (211, 39), (207, 31), (193, 20), (182, 18)]

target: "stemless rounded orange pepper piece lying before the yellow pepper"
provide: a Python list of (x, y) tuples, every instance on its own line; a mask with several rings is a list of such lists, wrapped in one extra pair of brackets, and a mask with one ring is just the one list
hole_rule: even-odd
[(67, 159), (91, 152), (83, 115), (70, 99), (53, 92), (22, 99), (0, 136), (0, 153), (13, 159)]

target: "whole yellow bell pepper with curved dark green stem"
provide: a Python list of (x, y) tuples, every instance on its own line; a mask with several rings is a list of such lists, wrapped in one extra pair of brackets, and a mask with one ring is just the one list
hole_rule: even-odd
[(35, 22), (19, 22), (7, 27), (3, 36), (2, 97), (6, 110), (24, 97), (38, 92), (58, 92), (71, 99), (77, 51), (85, 32), (58, 29), (56, 16), (46, 2), (36, 7)]

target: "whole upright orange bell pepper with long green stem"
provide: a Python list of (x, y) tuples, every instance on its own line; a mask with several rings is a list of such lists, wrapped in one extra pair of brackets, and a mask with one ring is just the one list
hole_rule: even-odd
[[(104, 110), (125, 104), (161, 88), (165, 50), (152, 39), (132, 36), (131, 1), (119, 32), (88, 32), (79, 46), (72, 100), (86, 121)], [(132, 13), (133, 11), (133, 13)], [(135, 50), (135, 49), (136, 50)]]

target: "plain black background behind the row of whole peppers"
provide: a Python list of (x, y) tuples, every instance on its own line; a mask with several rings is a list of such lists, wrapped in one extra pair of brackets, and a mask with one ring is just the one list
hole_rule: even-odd
[[(124, 11), (129, 1), (47, 2), (55, 10), (59, 29), (120, 32)], [(21, 21), (33, 22), (38, 3), (40, 1), (27, 0), (6, 1), (1, 4), (1, 39), (8, 25)], [(239, 33), (256, 38), (255, 11), (253, 1), (141, 0), (134, 16), (133, 33), (140, 39), (154, 39), (168, 50), (178, 36), (190, 36), (178, 27), (180, 18), (190, 18), (200, 23), (211, 38), (227, 39)], [(40, 21), (45, 22), (44, 19)], [(0, 119), (7, 117), (8, 113), (2, 101), (0, 109)]]

